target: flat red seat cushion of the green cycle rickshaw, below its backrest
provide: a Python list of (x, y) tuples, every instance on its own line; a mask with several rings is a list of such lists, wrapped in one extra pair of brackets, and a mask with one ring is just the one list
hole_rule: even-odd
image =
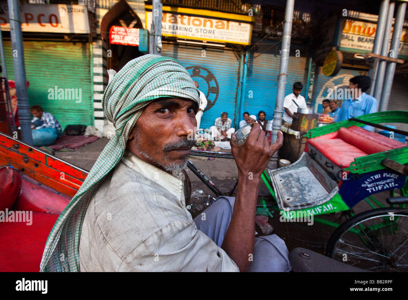
[(340, 138), (328, 140), (312, 138), (308, 140), (308, 142), (340, 168), (349, 167), (350, 163), (353, 162), (356, 157), (367, 155), (364, 151), (348, 144)]

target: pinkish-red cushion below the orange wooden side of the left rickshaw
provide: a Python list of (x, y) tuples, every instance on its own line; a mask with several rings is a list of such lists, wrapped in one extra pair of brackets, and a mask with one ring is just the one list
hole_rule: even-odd
[(59, 215), (70, 201), (69, 198), (39, 187), (25, 178), (21, 182), (21, 189), (22, 193), (14, 204), (14, 210), (42, 211)]

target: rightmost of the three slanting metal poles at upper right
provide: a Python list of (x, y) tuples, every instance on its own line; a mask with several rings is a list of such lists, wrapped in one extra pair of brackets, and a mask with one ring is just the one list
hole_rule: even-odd
[[(406, 2), (399, 4), (397, 10), (397, 17), (395, 18), (394, 32), (392, 33), (391, 51), (393, 51), (394, 58), (398, 57), (399, 50), (399, 41), (401, 40), (402, 26), (404, 25), (404, 16), (406, 11), (407, 4)], [(386, 111), (388, 107), (388, 100), (390, 99), (392, 80), (394, 79), (395, 67), (397, 66), (396, 62), (388, 62), (385, 77), (384, 77), (384, 87), (381, 94), (381, 101), (379, 103), (378, 111)], [(377, 99), (379, 100), (379, 99)]]

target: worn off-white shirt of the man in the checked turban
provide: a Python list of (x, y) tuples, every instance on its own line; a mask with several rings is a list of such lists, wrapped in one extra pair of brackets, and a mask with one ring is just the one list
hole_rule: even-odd
[(239, 271), (197, 227), (183, 180), (125, 151), (86, 210), (81, 271)]

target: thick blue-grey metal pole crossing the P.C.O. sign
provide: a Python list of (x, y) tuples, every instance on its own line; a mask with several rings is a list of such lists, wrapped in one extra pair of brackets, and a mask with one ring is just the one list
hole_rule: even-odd
[(27, 96), (27, 80), (24, 67), (24, 49), (21, 33), (20, 7), (18, 0), (8, 0), (11, 50), (13, 51), (14, 80), (18, 102), (18, 118), (21, 126), (21, 140), (33, 144), (31, 136), (31, 113)]

